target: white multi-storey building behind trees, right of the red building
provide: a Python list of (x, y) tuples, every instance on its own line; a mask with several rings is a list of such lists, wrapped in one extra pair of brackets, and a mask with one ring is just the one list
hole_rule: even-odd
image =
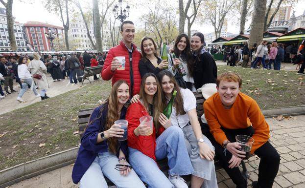
[[(95, 37), (94, 37), (94, 28), (93, 24), (89, 26), (89, 33), (91, 39), (95, 45)], [(101, 33), (103, 33), (103, 50), (108, 50), (111, 44), (111, 35), (110, 30), (107, 22), (104, 22), (103, 29), (101, 29)], [(94, 47), (92, 46), (90, 39), (87, 35), (87, 29), (85, 22), (82, 16), (74, 15), (73, 19), (70, 21), (70, 27), (68, 31), (68, 38), (70, 43), (70, 48), (72, 50), (93, 50)]]

